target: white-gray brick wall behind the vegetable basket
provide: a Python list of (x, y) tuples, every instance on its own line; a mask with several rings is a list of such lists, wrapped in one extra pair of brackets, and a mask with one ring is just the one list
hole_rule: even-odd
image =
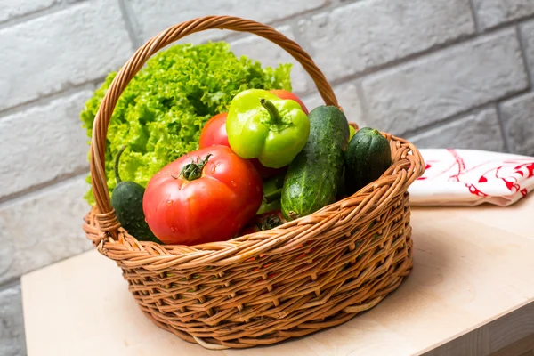
[[(419, 147), (534, 156), (532, 0), (0, 1), (0, 354), (23, 355), (20, 275), (90, 248), (87, 144), (79, 111), (95, 85), (158, 31), (228, 14), (303, 46), (347, 117)], [(295, 64), (296, 93), (320, 95), (274, 44), (213, 30), (264, 65)]]

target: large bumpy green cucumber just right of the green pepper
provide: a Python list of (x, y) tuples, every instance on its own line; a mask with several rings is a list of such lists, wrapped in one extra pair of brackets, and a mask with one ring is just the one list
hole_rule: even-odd
[(344, 170), (349, 125), (343, 111), (320, 106), (308, 118), (310, 138), (287, 168), (282, 188), (282, 214), (287, 220), (333, 203)]

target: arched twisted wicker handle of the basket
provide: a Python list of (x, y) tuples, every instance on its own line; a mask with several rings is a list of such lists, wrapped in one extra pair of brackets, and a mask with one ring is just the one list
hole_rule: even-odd
[(231, 16), (207, 16), (185, 21), (167, 28), (165, 31), (159, 33), (158, 36), (152, 37), (126, 61), (124, 67), (118, 71), (117, 76), (113, 79), (111, 85), (109, 85), (109, 89), (106, 91), (94, 119), (90, 167), (93, 194), (99, 212), (96, 214), (96, 218), (101, 227), (101, 231), (108, 231), (114, 239), (117, 238), (117, 229), (120, 223), (117, 221), (117, 216), (109, 200), (109, 190), (104, 168), (104, 152), (106, 149), (106, 134), (108, 133), (109, 120), (117, 105), (118, 98), (125, 90), (126, 85), (128, 85), (135, 74), (142, 69), (142, 66), (154, 53), (157, 53), (160, 49), (166, 47), (166, 45), (184, 36), (215, 28), (250, 32), (257, 36), (262, 36), (274, 44), (278, 44), (287, 53), (291, 54), (296, 61), (299, 61), (303, 65), (303, 68), (312, 77), (325, 103), (338, 107), (336, 95), (332, 87), (328, 84), (327, 78), (315, 65), (312, 57), (300, 45), (282, 35), (274, 28), (254, 20), (245, 20)]

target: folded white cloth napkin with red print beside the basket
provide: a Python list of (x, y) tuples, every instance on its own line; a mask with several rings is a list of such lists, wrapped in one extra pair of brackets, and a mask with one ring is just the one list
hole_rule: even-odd
[(413, 206), (510, 206), (534, 190), (534, 158), (483, 150), (419, 150), (425, 174), (409, 186)]

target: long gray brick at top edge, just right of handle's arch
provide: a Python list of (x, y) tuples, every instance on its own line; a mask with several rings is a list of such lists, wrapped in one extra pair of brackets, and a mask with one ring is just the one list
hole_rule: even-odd
[(468, 0), (369, 0), (299, 22), (330, 80), (425, 51), (474, 31)]

